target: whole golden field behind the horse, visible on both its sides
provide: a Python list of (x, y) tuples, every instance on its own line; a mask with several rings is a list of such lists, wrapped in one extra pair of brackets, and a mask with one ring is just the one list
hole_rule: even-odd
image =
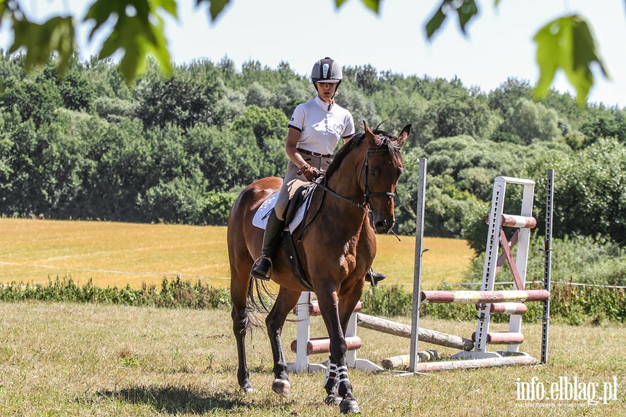
[[(374, 268), (384, 284), (412, 284), (415, 236), (377, 236)], [(464, 240), (425, 238), (425, 283), (461, 280), (473, 252)], [(0, 219), (0, 282), (47, 284), (72, 277), (77, 284), (139, 288), (181, 275), (228, 286), (225, 227), (115, 222)]]

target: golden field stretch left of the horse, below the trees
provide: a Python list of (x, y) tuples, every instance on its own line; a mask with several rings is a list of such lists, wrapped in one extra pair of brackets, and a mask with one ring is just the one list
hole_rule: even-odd
[(4, 283), (46, 284), (58, 275), (139, 288), (182, 275), (228, 285), (225, 227), (0, 219), (0, 241)]

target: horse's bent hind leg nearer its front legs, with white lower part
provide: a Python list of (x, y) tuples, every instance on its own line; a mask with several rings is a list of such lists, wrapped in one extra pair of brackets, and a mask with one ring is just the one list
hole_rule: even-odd
[(265, 319), (274, 359), (273, 372), (275, 379), (272, 383), (272, 391), (283, 397), (289, 397), (291, 385), (289, 384), (289, 379), (287, 379), (287, 361), (285, 361), (284, 352), (282, 351), (282, 326), (284, 325), (284, 320), (287, 318), (289, 311), (296, 306), (298, 297), (300, 297), (300, 291), (280, 287), (272, 311), (270, 311)]

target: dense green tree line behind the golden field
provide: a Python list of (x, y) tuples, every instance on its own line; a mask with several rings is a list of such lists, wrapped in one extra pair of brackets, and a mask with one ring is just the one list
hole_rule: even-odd
[[(73, 56), (63, 77), (51, 62), (26, 74), (23, 61), (0, 54), (0, 214), (10, 217), (223, 225), (243, 186), (282, 176), (289, 117), (315, 93), (285, 62), (195, 60), (170, 76), (149, 63), (129, 84), (111, 60)], [(336, 99), (358, 125), (394, 134), (413, 125), (399, 234), (415, 233), (417, 166), (428, 158), (428, 236), (465, 238), (480, 252), (498, 175), (537, 182), (541, 224), (554, 168), (555, 236), (623, 247), (626, 110), (532, 94), (515, 78), (484, 92), (361, 65), (344, 68)]]

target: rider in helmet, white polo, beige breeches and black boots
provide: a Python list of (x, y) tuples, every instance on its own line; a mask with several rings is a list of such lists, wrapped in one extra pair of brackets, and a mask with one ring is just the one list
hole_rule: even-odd
[[(339, 139), (346, 143), (355, 135), (351, 113), (335, 103), (337, 88), (342, 83), (341, 65), (328, 56), (318, 60), (313, 65), (311, 79), (317, 96), (299, 104), (289, 120), (285, 145), (289, 163), (276, 204), (268, 217), (260, 261), (250, 271), (250, 275), (259, 279), (270, 279), (270, 259), (280, 242), (284, 229), (284, 211), (290, 196), (300, 186), (326, 171)], [(385, 279), (385, 275), (370, 269), (366, 279), (372, 286), (376, 286), (378, 281)]]

